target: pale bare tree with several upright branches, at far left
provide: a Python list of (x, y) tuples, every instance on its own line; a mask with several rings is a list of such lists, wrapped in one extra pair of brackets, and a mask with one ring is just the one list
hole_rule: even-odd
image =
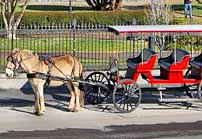
[(30, 0), (23, 1), (22, 9), (19, 14), (16, 15), (16, 8), (19, 0), (0, 0), (1, 16), (7, 31), (6, 37), (9, 39), (16, 38), (16, 34), (12, 33), (11, 31), (15, 31), (19, 26), (29, 1)]

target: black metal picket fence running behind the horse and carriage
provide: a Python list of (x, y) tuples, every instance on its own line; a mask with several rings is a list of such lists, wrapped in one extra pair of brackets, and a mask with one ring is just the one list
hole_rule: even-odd
[[(11, 33), (11, 38), (6, 36)], [(116, 35), (106, 25), (27, 25), (6, 31), (0, 27), (0, 67), (14, 48), (29, 49), (43, 56), (71, 54), (80, 59), (84, 70), (104, 70), (110, 59), (118, 58), (120, 68), (126, 59), (136, 56), (143, 48), (152, 47), (159, 57), (170, 54), (173, 48), (190, 51), (192, 56), (202, 51), (199, 33), (153, 33)], [(161, 48), (161, 49), (160, 49)]]

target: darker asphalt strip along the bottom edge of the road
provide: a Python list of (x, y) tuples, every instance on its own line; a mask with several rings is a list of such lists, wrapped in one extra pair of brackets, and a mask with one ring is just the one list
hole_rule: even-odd
[(107, 138), (169, 138), (201, 139), (202, 122), (152, 125), (106, 126), (98, 129), (58, 129), (53, 131), (19, 131), (0, 134), (1, 139), (107, 139)]

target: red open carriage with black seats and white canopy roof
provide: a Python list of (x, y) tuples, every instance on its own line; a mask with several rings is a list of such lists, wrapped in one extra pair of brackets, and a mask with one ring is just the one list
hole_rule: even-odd
[[(121, 33), (195, 33), (202, 32), (201, 25), (144, 25), (144, 26), (110, 26), (116, 34)], [(186, 94), (192, 99), (202, 101), (202, 53), (194, 58), (189, 52), (175, 48), (164, 58), (158, 59), (160, 75), (154, 76), (152, 71), (158, 59), (158, 54), (149, 48), (142, 48), (141, 53), (134, 58), (128, 58), (125, 77), (119, 75), (119, 62), (113, 59), (106, 73), (92, 72), (86, 77), (87, 82), (105, 85), (87, 85), (85, 99), (91, 104), (99, 104), (112, 95), (114, 107), (120, 112), (132, 112), (141, 102), (142, 89), (138, 85), (138, 77), (151, 85), (159, 85), (160, 102), (173, 102), (173, 99), (163, 99), (161, 85), (182, 85)], [(187, 67), (189, 67), (187, 69)], [(185, 73), (186, 71), (186, 73)], [(191, 90), (196, 86), (197, 93)], [(179, 101), (187, 101), (181, 99)]]

